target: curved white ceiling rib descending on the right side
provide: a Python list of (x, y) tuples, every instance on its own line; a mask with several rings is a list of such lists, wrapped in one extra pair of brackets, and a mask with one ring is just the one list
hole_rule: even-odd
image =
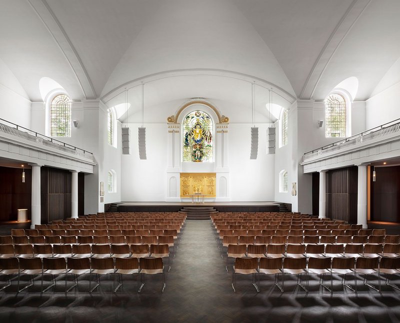
[(344, 38), (350, 32), (351, 28), (361, 17), (366, 7), (372, 0), (353, 0), (348, 6), (346, 12), (337, 23), (333, 32), (330, 34), (328, 40), (316, 58), (307, 79), (301, 89), (300, 99), (311, 99), (315, 89), (325, 71), (328, 63), (332, 59), (334, 53), (337, 51)]

